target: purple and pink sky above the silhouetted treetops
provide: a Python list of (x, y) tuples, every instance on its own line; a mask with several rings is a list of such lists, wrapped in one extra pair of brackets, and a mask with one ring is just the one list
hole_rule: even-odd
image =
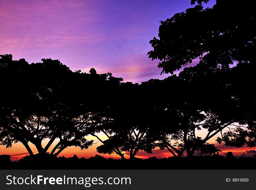
[(60, 59), (73, 71), (94, 67), (125, 81), (165, 78), (158, 60), (147, 57), (149, 41), (158, 36), (160, 20), (190, 7), (190, 0), (0, 0), (0, 54), (29, 63)]

